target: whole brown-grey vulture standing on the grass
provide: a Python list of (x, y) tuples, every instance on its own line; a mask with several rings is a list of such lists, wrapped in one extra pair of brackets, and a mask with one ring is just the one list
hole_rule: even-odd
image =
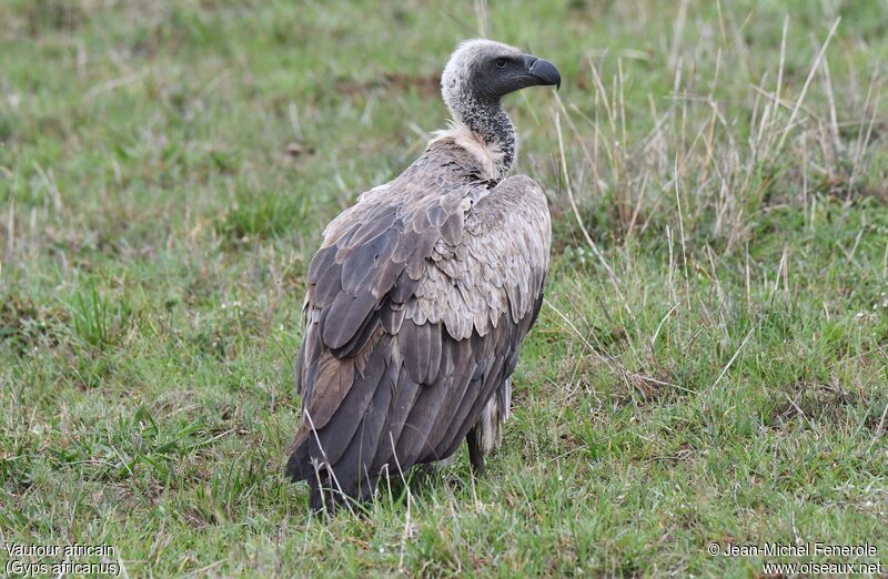
[(441, 78), (450, 129), (324, 230), (286, 465), (307, 480), (312, 509), (367, 500), (381, 476), (448, 458), (463, 440), (481, 474), (500, 444), (549, 264), (546, 196), (526, 175), (506, 177), (517, 142), (501, 99), (534, 85), (559, 87), (561, 74), (507, 44), (460, 44)]

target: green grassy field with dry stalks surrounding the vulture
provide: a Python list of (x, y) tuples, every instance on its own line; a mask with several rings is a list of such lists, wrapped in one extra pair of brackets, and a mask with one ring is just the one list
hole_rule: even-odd
[[(0, 22), (8, 545), (110, 545), (129, 577), (747, 577), (775, 558), (708, 546), (769, 541), (888, 571), (888, 2)], [(307, 261), (444, 126), (437, 75), (480, 33), (565, 79), (508, 101), (555, 243), (505, 447), (311, 516), (283, 478)], [(855, 560), (777, 558), (810, 559)]]

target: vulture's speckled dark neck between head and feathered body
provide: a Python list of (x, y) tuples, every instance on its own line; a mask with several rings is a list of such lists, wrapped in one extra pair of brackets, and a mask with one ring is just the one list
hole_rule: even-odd
[(458, 109), (451, 110), (454, 120), (468, 128), (475, 140), (480, 138), (483, 141), (485, 153), (490, 155), (491, 177), (501, 180), (515, 162), (516, 141), (512, 120), (498, 100), (467, 99), (460, 104)]

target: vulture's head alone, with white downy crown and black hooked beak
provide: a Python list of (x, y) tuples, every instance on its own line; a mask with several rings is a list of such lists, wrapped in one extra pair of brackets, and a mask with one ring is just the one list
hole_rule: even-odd
[(561, 83), (552, 62), (502, 42), (477, 39), (463, 42), (451, 55), (441, 75), (441, 92), (454, 116), (462, 120), (472, 105), (498, 104), (509, 92)]

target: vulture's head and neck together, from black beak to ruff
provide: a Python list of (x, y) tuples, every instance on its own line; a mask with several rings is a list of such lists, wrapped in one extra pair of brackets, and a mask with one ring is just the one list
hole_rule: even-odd
[(483, 142), (491, 174), (500, 179), (512, 167), (517, 149), (515, 128), (500, 100), (527, 87), (561, 87), (552, 62), (493, 40), (467, 40), (451, 54), (441, 75), (441, 93), (456, 126)]

